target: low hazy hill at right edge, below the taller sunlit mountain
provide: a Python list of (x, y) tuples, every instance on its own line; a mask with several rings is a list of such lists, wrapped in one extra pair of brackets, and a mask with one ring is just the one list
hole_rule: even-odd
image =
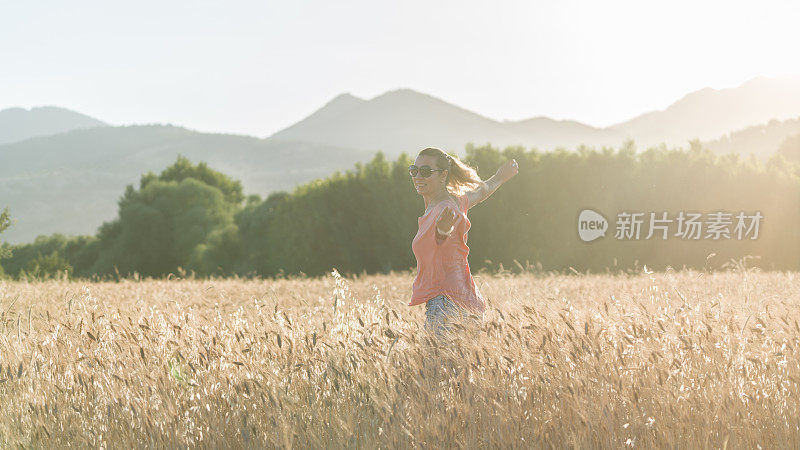
[(787, 138), (800, 134), (800, 117), (789, 120), (770, 120), (769, 123), (754, 125), (734, 131), (721, 138), (704, 143), (715, 153), (750, 153), (766, 161), (780, 148)]

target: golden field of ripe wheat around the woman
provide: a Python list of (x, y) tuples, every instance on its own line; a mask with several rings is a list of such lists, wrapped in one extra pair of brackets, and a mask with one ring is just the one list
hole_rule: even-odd
[(800, 447), (791, 272), (0, 281), (3, 447)]

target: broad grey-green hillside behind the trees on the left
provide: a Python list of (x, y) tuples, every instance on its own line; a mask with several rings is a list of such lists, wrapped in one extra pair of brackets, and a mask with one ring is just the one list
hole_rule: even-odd
[(178, 154), (207, 162), (242, 180), (247, 194), (262, 197), (373, 156), (328, 145), (162, 125), (91, 128), (0, 145), (0, 209), (8, 206), (16, 220), (3, 240), (94, 233), (115, 217), (125, 185), (138, 187), (143, 173), (163, 170)]

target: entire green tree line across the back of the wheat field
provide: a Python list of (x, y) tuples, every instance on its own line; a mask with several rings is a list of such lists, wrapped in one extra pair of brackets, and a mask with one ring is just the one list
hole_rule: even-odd
[[(473, 271), (707, 268), (750, 256), (766, 269), (800, 269), (800, 164), (780, 154), (764, 164), (715, 155), (697, 141), (685, 150), (638, 153), (629, 141), (619, 149), (553, 152), (467, 145), (463, 159), (486, 179), (509, 158), (519, 162), (519, 174), (469, 211)], [(344, 173), (262, 199), (179, 156), (161, 173), (142, 175), (138, 189), (128, 185), (117, 217), (95, 235), (3, 244), (0, 275), (275, 277), (322, 275), (333, 267), (343, 274), (414, 269), (414, 219), (424, 204), (408, 175), (412, 163), (406, 153), (389, 161), (378, 152)], [(579, 239), (583, 209), (607, 219), (604, 237)], [(762, 217), (756, 239), (753, 230), (743, 239), (677, 233), (682, 212), (734, 218), (756, 211)], [(646, 238), (651, 213), (671, 219), (666, 239), (660, 231)], [(638, 238), (619, 232), (627, 214), (643, 219)], [(8, 223), (7, 213), (0, 216), (0, 232)]]

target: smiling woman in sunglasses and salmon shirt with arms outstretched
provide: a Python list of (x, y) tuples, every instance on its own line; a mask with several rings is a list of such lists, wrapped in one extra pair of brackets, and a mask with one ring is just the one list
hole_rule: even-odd
[(467, 262), (467, 210), (516, 175), (517, 162), (508, 161), (484, 182), (458, 158), (428, 147), (419, 152), (408, 172), (425, 200), (425, 212), (411, 244), (417, 276), (408, 305), (425, 303), (425, 328), (441, 338), (447, 322), (455, 317), (472, 313), (483, 318), (486, 300)]

